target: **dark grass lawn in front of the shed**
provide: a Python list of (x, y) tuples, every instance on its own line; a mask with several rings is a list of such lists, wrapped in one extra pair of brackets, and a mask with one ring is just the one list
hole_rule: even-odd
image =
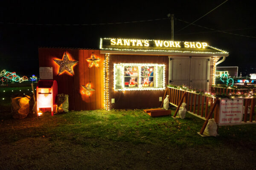
[(256, 125), (220, 127), (220, 136), (201, 137), (204, 121), (189, 113), (173, 119), (96, 110), (12, 119), (10, 102), (3, 101), (0, 170), (256, 169)]

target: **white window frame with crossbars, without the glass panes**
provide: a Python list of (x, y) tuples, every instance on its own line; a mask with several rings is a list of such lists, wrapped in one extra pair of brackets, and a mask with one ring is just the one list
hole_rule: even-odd
[[(116, 88), (116, 66), (121, 66), (121, 88)], [(125, 87), (125, 66), (137, 66), (138, 67), (138, 75), (137, 75), (137, 87)], [(141, 67), (142, 66), (148, 66), (152, 67), (154, 66), (154, 86), (153, 87), (143, 87), (141, 85), (141, 78), (144, 76), (141, 76)], [(163, 75), (161, 78), (163, 78), (162, 87), (157, 88), (159, 75), (158, 75), (158, 67), (163, 67)], [(134, 76), (131, 76), (134, 77)], [(150, 77), (150, 76), (148, 76)], [(151, 64), (151, 63), (114, 63), (113, 65), (113, 88), (115, 91), (137, 91), (137, 90), (164, 90), (165, 89), (165, 65), (164, 64)]]

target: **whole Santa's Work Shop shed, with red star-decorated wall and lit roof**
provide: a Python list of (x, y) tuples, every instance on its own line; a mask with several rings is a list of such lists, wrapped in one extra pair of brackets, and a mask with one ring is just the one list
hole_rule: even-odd
[(38, 52), (39, 67), (53, 68), (58, 94), (69, 94), (76, 111), (159, 107), (169, 83), (209, 91), (216, 65), (229, 55), (206, 42), (116, 38), (102, 38), (99, 50)]

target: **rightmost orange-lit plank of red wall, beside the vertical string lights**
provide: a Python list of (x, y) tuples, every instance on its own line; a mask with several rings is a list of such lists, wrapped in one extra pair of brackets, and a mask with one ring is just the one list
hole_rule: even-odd
[[(95, 58), (100, 58), (99, 56), (99, 50), (94, 50), (94, 56)], [(100, 59), (101, 60), (101, 59)], [(98, 61), (99, 64), (99, 61)], [(99, 65), (100, 66), (100, 65)], [(101, 99), (100, 99), (100, 68), (93, 66), (95, 68), (95, 102), (96, 102), (96, 109), (100, 109), (100, 103), (101, 103)]]

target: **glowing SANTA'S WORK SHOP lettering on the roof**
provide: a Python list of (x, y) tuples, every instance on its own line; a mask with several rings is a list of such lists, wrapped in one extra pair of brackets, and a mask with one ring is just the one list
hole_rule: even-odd
[(168, 48), (206, 48), (206, 42), (180, 42), (163, 40), (130, 40), (130, 39), (110, 39), (111, 45), (140, 46), (140, 47), (168, 47)]

